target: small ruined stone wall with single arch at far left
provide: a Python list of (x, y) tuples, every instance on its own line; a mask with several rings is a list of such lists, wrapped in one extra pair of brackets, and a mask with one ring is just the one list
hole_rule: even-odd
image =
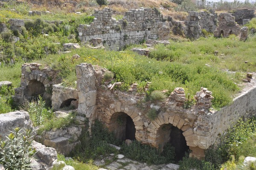
[(38, 63), (25, 63), (21, 66), (20, 87), (15, 89), (14, 101), (22, 104), (24, 99), (32, 100), (41, 95), (51, 100), (52, 85), (61, 83), (57, 72)]

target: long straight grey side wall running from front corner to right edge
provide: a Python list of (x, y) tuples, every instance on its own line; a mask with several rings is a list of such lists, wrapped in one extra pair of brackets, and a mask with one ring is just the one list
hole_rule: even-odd
[[(222, 135), (227, 128), (233, 126), (239, 118), (250, 118), (256, 115), (256, 86), (235, 98), (233, 104), (221, 108), (221, 110), (200, 115), (196, 134), (202, 137), (201, 142), (207, 142), (205, 148), (214, 144), (218, 135)], [(199, 128), (198, 128), (199, 127)], [(195, 129), (194, 129), (195, 130)]]

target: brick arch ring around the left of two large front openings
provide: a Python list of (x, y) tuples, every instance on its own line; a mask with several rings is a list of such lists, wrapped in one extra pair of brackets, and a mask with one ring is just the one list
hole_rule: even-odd
[(143, 133), (142, 131), (144, 130), (144, 123), (139, 115), (139, 110), (136, 107), (131, 108), (130, 105), (126, 105), (121, 102), (110, 104), (109, 107), (105, 109), (105, 115), (104, 118), (102, 118), (102, 121), (106, 123), (106, 127), (108, 127), (109, 130), (112, 130), (111, 118), (117, 112), (124, 112), (131, 117), (136, 129), (135, 138), (137, 141), (141, 141), (140, 134)]

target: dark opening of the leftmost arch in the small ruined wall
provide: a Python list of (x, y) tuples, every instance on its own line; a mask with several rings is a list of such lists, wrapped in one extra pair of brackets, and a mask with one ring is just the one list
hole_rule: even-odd
[(38, 95), (43, 96), (45, 92), (44, 84), (37, 80), (29, 81), (27, 89), (28, 89), (27, 94), (30, 99), (38, 98)]

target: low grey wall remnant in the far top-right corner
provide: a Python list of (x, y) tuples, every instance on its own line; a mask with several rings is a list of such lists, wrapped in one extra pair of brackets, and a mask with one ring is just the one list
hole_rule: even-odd
[(236, 9), (232, 11), (232, 15), (235, 17), (235, 21), (239, 25), (243, 25), (244, 19), (251, 20), (255, 17), (254, 12), (254, 9)]

